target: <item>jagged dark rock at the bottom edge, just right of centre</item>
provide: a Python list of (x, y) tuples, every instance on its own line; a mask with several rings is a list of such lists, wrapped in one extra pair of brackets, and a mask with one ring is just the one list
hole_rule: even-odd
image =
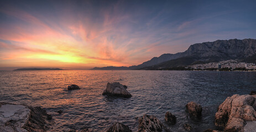
[(144, 114), (143, 117), (139, 118), (139, 130), (138, 132), (152, 131), (160, 132), (163, 131), (163, 123), (154, 116)]

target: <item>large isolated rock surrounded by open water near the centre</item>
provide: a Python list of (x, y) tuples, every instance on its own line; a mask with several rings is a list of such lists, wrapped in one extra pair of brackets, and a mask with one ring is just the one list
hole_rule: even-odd
[(107, 89), (103, 91), (102, 95), (115, 97), (132, 97), (126, 88), (120, 83), (108, 83)]

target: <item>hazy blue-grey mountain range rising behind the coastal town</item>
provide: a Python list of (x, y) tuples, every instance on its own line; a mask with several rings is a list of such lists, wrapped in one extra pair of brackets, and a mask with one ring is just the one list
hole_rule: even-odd
[(243, 40), (232, 39), (195, 43), (185, 52), (175, 54), (165, 53), (139, 65), (130, 67), (95, 67), (92, 70), (134, 70), (155, 69), (160, 67), (185, 67), (187, 65), (220, 62), (229, 59), (238, 59), (243, 62), (256, 63), (256, 40), (248, 38)]

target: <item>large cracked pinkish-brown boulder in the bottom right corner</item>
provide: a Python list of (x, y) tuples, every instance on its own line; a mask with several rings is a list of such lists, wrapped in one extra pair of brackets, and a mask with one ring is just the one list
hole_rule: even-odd
[[(256, 120), (256, 102), (252, 95), (233, 95), (218, 107), (215, 125), (225, 131), (244, 131), (246, 121)], [(256, 130), (256, 126), (254, 126)]]

